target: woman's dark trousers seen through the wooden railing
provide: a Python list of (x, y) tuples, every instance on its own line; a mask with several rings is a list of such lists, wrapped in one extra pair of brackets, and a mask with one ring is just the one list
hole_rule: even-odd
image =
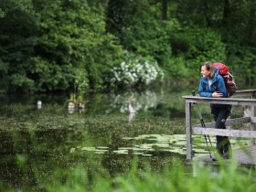
[[(227, 107), (226, 107), (227, 106)], [(230, 107), (224, 105), (223, 107), (211, 107), (211, 113), (213, 114), (215, 120), (215, 127), (218, 129), (226, 129), (226, 120), (229, 117)], [(229, 148), (231, 147), (229, 142), (229, 137), (227, 136), (216, 136), (217, 139), (217, 150), (219, 155), (226, 155), (229, 153)]]

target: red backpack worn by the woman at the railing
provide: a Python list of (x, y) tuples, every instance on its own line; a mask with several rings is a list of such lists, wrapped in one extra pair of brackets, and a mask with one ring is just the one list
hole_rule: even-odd
[(229, 72), (229, 68), (226, 65), (219, 62), (213, 63), (213, 65), (219, 69), (219, 75), (223, 77), (226, 89), (229, 93), (229, 97), (231, 97), (233, 94), (235, 94), (238, 87), (233, 76)]

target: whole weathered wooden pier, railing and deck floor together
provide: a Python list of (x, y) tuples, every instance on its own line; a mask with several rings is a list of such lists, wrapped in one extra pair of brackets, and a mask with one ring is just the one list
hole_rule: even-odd
[[(246, 97), (246, 98), (244, 98)], [(239, 165), (256, 165), (256, 117), (254, 108), (256, 106), (256, 90), (237, 91), (231, 98), (206, 98), (199, 96), (183, 96), (186, 102), (186, 134), (187, 134), (187, 160), (192, 160), (192, 134), (201, 135), (220, 135), (229, 137), (250, 138), (251, 145), (241, 149), (232, 151), (232, 155)], [(205, 123), (206, 128), (202, 128), (200, 124), (191, 124), (191, 104), (192, 103), (218, 103), (247, 106), (248, 116), (235, 119), (228, 119), (226, 126), (250, 123), (249, 130), (233, 130), (233, 129), (216, 129), (215, 123)], [(215, 146), (214, 146), (215, 147)], [(209, 155), (200, 155), (196, 157), (206, 163), (214, 163)], [(216, 164), (216, 162), (215, 162)]]

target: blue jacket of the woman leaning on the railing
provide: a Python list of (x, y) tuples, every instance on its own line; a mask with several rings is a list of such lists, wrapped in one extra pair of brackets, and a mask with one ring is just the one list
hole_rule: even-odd
[(212, 97), (212, 93), (219, 91), (223, 94), (223, 98), (228, 97), (228, 91), (225, 86), (225, 82), (221, 75), (219, 75), (219, 69), (216, 68), (212, 84), (208, 87), (208, 79), (201, 78), (198, 93), (201, 97)]

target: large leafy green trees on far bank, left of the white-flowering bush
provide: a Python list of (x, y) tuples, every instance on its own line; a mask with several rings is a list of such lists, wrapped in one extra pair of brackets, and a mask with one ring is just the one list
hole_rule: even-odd
[(121, 48), (105, 32), (101, 5), (86, 2), (2, 2), (0, 70), (7, 91), (67, 91), (74, 81), (101, 88)]

